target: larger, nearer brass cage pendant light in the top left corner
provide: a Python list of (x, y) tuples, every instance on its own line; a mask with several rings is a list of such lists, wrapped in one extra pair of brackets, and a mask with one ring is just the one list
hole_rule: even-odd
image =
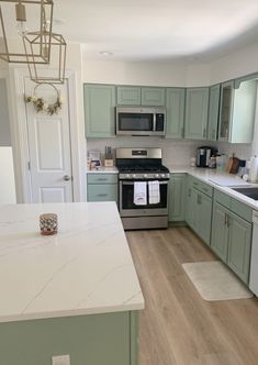
[[(0, 0), (0, 58), (20, 64), (49, 63), (53, 7), (53, 0)], [(33, 54), (25, 53), (24, 37), (30, 30), (38, 29), (37, 47)], [(15, 36), (16, 33), (20, 35), (19, 38)]]

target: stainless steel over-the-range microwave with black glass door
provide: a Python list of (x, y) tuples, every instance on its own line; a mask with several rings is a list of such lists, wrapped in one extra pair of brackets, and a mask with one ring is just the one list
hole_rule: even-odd
[(117, 135), (165, 135), (165, 108), (116, 107)]

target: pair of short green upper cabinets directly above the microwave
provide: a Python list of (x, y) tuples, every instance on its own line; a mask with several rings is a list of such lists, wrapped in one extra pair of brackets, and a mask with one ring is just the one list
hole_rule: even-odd
[(117, 86), (117, 106), (164, 107), (165, 88)]

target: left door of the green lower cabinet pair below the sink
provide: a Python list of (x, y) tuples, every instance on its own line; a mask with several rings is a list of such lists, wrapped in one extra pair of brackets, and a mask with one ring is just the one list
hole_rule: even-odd
[(224, 263), (227, 261), (228, 217), (229, 211), (214, 202), (211, 247)]

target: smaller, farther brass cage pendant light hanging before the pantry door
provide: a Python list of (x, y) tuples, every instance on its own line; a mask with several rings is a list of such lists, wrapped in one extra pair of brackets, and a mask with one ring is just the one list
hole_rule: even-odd
[[(43, 33), (48, 37), (48, 31)], [(40, 43), (40, 32), (29, 32), (23, 37), (24, 49), (27, 55), (34, 55), (34, 49)], [(52, 53), (52, 64), (38, 67), (34, 62), (27, 62), (29, 73), (31, 80), (36, 84), (64, 84), (65, 70), (66, 70), (66, 41), (61, 34), (51, 34), (51, 47), (45, 48), (45, 53), (49, 55)]]

